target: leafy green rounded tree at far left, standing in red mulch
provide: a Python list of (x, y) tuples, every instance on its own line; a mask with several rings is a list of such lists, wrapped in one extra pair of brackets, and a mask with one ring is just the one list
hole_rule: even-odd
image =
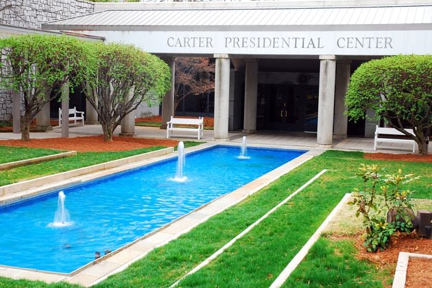
[(87, 61), (91, 54), (82, 40), (41, 34), (0, 39), (0, 53), (1, 85), (23, 94), (21, 139), (29, 141), (34, 117), (60, 94), (54, 87), (66, 82), (76, 86), (91, 67)]

